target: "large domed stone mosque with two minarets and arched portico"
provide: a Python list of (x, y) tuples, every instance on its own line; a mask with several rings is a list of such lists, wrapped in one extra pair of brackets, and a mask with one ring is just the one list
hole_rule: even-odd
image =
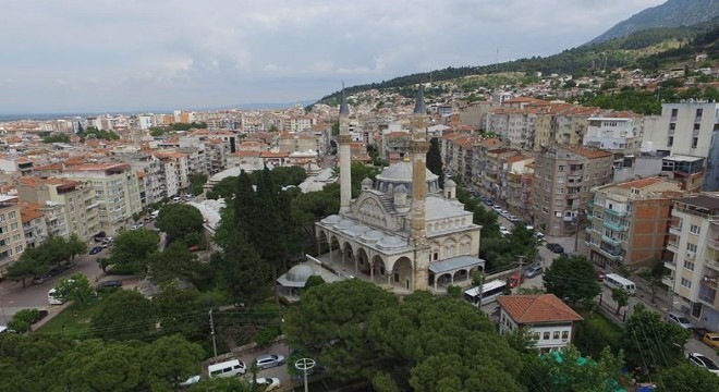
[(427, 169), (423, 90), (417, 91), (412, 114), (409, 158), (385, 168), (374, 182), (364, 179), (355, 199), (351, 198), (349, 118), (343, 89), (338, 136), (340, 212), (315, 225), (319, 245), (330, 245), (321, 258), (330, 266), (346, 267), (346, 275), (395, 291), (467, 284), (485, 267), (478, 258), (482, 226), (473, 223), (472, 212), (456, 199), (456, 184), (448, 180), (440, 188), (439, 177)]

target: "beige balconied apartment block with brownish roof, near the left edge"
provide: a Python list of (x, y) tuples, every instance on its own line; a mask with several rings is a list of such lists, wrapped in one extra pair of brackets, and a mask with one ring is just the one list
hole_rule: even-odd
[(48, 234), (76, 234), (89, 241), (100, 231), (99, 203), (90, 180), (24, 177), (17, 183), (17, 195), (40, 206)]

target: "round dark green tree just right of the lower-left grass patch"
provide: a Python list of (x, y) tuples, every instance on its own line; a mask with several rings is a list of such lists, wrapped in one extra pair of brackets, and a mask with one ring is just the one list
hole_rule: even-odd
[(142, 340), (155, 331), (155, 308), (139, 292), (119, 290), (108, 295), (90, 319), (90, 332), (103, 340)]

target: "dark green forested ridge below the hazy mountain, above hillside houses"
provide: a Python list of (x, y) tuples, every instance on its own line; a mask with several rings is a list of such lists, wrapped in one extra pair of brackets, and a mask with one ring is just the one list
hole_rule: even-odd
[[(389, 81), (348, 87), (348, 94), (373, 88), (402, 88), (429, 81), (450, 81), (470, 75), (504, 72), (541, 72), (543, 74), (586, 75), (617, 68), (642, 68), (654, 72), (677, 59), (690, 60), (693, 54), (707, 52), (719, 57), (719, 17), (694, 26), (651, 28), (622, 38), (568, 49), (549, 57), (532, 57), (498, 64), (447, 68), (431, 72), (399, 76)], [(666, 53), (666, 54), (665, 54)], [(339, 91), (322, 97), (319, 102), (336, 105)]]

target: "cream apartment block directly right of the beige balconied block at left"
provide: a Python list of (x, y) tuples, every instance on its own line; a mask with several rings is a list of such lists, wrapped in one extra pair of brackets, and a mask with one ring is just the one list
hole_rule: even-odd
[(130, 164), (80, 164), (65, 169), (62, 176), (93, 184), (101, 231), (117, 233), (132, 222), (133, 213), (143, 210), (137, 173)]

